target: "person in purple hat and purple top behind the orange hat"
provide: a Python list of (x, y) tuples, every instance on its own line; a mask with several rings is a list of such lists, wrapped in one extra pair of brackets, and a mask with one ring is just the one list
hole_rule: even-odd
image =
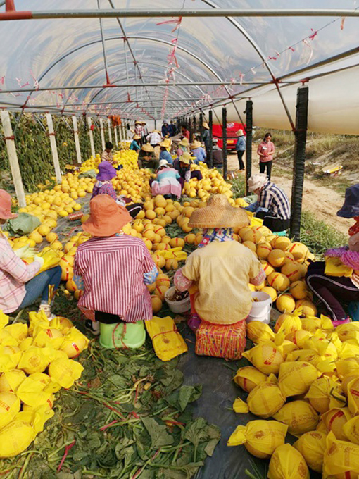
[[(108, 196), (113, 198), (120, 206), (125, 206), (127, 203), (130, 203), (132, 201), (131, 198), (127, 198), (124, 195), (117, 196), (111, 181), (115, 176), (117, 176), (117, 171), (113, 168), (111, 163), (109, 161), (102, 161), (99, 164), (99, 174), (96, 176), (96, 183), (91, 199), (98, 194), (108, 194)], [(135, 216), (141, 211), (142, 205), (141, 203), (134, 203), (125, 206), (125, 208), (132, 218), (135, 218)]]

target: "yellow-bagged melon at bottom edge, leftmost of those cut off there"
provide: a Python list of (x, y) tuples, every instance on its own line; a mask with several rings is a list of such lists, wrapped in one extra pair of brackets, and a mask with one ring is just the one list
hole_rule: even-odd
[(268, 479), (309, 479), (308, 466), (291, 444), (282, 444), (270, 458)]

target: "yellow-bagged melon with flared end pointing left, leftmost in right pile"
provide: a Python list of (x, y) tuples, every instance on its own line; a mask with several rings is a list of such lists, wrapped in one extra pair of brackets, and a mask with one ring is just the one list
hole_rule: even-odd
[(237, 426), (227, 446), (244, 444), (247, 451), (259, 459), (269, 459), (278, 446), (284, 444), (288, 426), (278, 421), (249, 421)]

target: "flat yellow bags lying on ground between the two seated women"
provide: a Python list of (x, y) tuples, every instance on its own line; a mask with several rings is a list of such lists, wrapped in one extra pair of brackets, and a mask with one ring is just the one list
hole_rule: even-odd
[(151, 337), (153, 349), (161, 361), (170, 361), (188, 351), (187, 344), (170, 316), (165, 318), (153, 316), (151, 321), (144, 323)]

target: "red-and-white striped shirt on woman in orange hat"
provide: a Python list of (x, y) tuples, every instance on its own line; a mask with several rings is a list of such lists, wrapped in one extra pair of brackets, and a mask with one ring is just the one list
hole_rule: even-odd
[(144, 273), (154, 266), (149, 250), (137, 237), (96, 237), (82, 243), (74, 265), (74, 274), (84, 280), (80, 309), (116, 314), (128, 323), (151, 319)]

